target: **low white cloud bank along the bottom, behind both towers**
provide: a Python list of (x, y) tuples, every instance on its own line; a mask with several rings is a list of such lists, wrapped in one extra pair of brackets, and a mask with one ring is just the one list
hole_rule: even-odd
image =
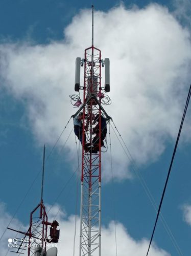
[[(50, 206), (50, 205), (49, 205)], [(60, 210), (59, 205), (55, 205), (52, 207), (52, 210), (49, 212), (49, 221), (55, 220), (55, 215), (57, 215), (56, 220), (59, 222), (60, 228), (60, 239), (58, 246), (58, 256), (62, 255), (73, 255), (74, 249), (74, 235), (75, 235), (75, 216), (67, 216), (66, 212)], [(6, 209), (1, 204), (1, 215), (0, 215), (0, 223), (5, 227), (9, 221), (10, 215), (7, 214)], [(75, 256), (79, 255), (79, 227), (80, 227), (80, 219), (77, 216), (76, 218), (76, 243), (75, 243)], [(14, 223), (11, 223), (11, 226), (18, 227), (20, 223), (17, 220), (14, 220)], [(8, 238), (15, 235), (14, 232), (6, 233), (3, 240), (4, 253), (1, 255), (6, 255), (8, 250)], [(116, 223), (116, 238), (117, 238), (117, 255), (124, 256), (124, 252), (126, 256), (142, 256), (146, 254), (149, 241), (145, 238), (136, 241), (133, 239), (128, 233), (127, 229), (121, 223)], [(1, 247), (2, 248), (2, 247)], [(115, 256), (115, 229), (114, 222), (110, 222), (108, 226), (102, 227), (102, 255), (110, 255)], [(10, 254), (9, 254), (10, 253)], [(25, 253), (25, 252), (24, 252)], [(169, 256), (170, 254), (164, 251), (161, 248), (158, 248), (154, 243), (151, 247), (150, 254), (152, 256)], [(8, 252), (8, 256), (11, 255), (11, 252)], [(97, 254), (96, 254), (97, 255)]]

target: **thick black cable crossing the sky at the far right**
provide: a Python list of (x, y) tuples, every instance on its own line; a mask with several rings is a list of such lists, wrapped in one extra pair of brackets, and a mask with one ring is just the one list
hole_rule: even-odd
[(150, 250), (151, 243), (152, 243), (152, 240), (153, 240), (154, 232), (155, 232), (155, 229), (156, 229), (156, 224), (157, 224), (158, 217), (159, 217), (159, 214), (160, 214), (160, 209), (161, 209), (161, 206), (162, 206), (162, 202), (163, 202), (163, 198), (164, 198), (166, 186), (167, 186), (167, 184), (168, 184), (169, 177), (170, 177), (170, 174), (171, 174), (171, 169), (172, 169), (174, 157), (175, 157), (175, 154), (176, 154), (176, 150), (177, 150), (177, 146), (178, 146), (178, 141), (179, 141), (179, 138), (180, 138), (180, 134), (181, 134), (181, 131), (182, 131), (182, 126), (183, 126), (184, 118), (185, 118), (185, 115), (186, 115), (186, 111), (187, 111), (187, 107), (188, 107), (190, 95), (191, 95), (191, 84), (190, 84), (190, 87), (189, 87), (189, 92), (188, 92), (188, 96), (187, 96), (187, 99), (186, 99), (186, 104), (185, 104), (185, 108), (184, 108), (184, 113), (183, 113), (183, 116), (182, 116), (182, 120), (181, 120), (181, 124), (180, 124), (180, 128), (179, 128), (177, 140), (176, 140), (176, 143), (175, 143), (175, 147), (174, 147), (173, 156), (172, 156), (172, 159), (171, 159), (171, 163), (170, 163), (168, 175), (167, 175), (167, 177), (166, 177), (166, 181), (165, 181), (164, 188), (163, 188), (163, 192), (162, 192), (162, 197), (161, 197), (160, 204), (159, 204), (159, 207), (158, 207), (158, 212), (157, 212), (157, 216), (156, 216), (156, 220), (155, 220), (155, 224), (154, 224), (154, 228), (153, 228), (151, 240), (150, 240), (150, 243), (149, 243), (149, 248), (148, 248), (148, 251), (147, 251), (147, 256), (148, 256), (148, 254), (149, 254), (149, 250)]

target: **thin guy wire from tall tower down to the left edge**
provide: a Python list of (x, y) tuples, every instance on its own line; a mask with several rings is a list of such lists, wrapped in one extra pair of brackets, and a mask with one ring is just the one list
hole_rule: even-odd
[[(58, 139), (56, 140), (56, 142), (55, 142), (55, 144), (54, 144), (54, 146), (53, 146), (51, 152), (50, 152), (49, 155), (47, 156), (45, 162), (49, 159), (49, 157), (51, 156), (52, 152), (54, 151), (54, 148), (56, 147), (58, 141), (60, 140), (60, 138), (61, 138), (61, 136), (62, 136), (62, 134), (63, 134), (63, 132), (65, 131), (65, 129), (66, 129), (66, 127), (67, 127), (67, 125), (68, 125), (70, 119), (71, 119), (71, 117), (70, 117), (69, 120), (67, 121), (67, 123), (66, 123), (66, 125), (65, 125), (65, 127), (64, 127), (64, 129), (63, 129), (63, 131), (62, 131), (61, 134), (60, 134), (60, 136), (59, 136)], [(17, 207), (16, 211), (14, 212), (14, 214), (13, 214), (13, 216), (12, 216), (12, 218), (11, 218), (11, 220), (10, 220), (10, 222), (9, 222), (9, 224), (8, 224), (7, 227), (9, 227), (9, 225), (10, 225), (11, 222), (13, 221), (15, 215), (17, 214), (18, 210), (20, 209), (20, 206), (22, 205), (22, 203), (23, 203), (23, 202), (25, 201), (25, 199), (27, 198), (27, 196), (28, 196), (28, 194), (29, 194), (31, 188), (33, 187), (34, 183), (36, 182), (36, 180), (37, 180), (37, 178), (38, 178), (40, 172), (41, 172), (41, 170), (39, 170), (39, 172), (38, 172), (38, 174), (36, 175), (35, 179), (34, 179), (33, 182), (31, 183), (31, 186), (29, 187), (29, 189), (27, 190), (26, 195), (23, 197), (23, 199), (21, 200), (20, 204), (18, 205), (18, 207)], [(1, 238), (0, 238), (0, 241), (1, 241), (2, 238), (4, 237), (4, 234), (6, 233), (6, 230), (7, 230), (7, 228), (4, 230), (4, 232), (3, 232), (3, 234), (2, 234), (2, 236), (1, 236)]]

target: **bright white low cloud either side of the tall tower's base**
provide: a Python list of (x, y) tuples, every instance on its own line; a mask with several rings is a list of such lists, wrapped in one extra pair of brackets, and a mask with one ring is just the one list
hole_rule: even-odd
[[(76, 236), (76, 246), (75, 255), (79, 255), (79, 229), (80, 220), (77, 219), (77, 236)], [(58, 252), (64, 252), (65, 255), (73, 255), (74, 248), (74, 227), (75, 227), (75, 216), (69, 216), (67, 220), (62, 221), (60, 229), (63, 230), (60, 236), (60, 242), (58, 244)], [(142, 256), (146, 254), (149, 241), (147, 239), (141, 239), (140, 241), (134, 240), (127, 229), (121, 223), (116, 224), (116, 238), (117, 238), (117, 255), (124, 256)], [(115, 248), (115, 230), (114, 222), (109, 223), (109, 225), (102, 227), (102, 255), (116, 255)], [(153, 244), (150, 254), (152, 256), (168, 256), (168, 252), (158, 248)], [(58, 253), (58, 256), (61, 255)], [(98, 254), (96, 254), (98, 255)]]

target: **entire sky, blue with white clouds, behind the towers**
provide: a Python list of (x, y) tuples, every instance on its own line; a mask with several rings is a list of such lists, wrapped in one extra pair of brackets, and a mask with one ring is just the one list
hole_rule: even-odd
[[(111, 123), (111, 155), (109, 136), (102, 153), (102, 255), (147, 253), (153, 205), (191, 80), (189, 0), (0, 1), (0, 256), (12, 255), (8, 239), (15, 233), (4, 233), (6, 227), (26, 231), (40, 201), (44, 144), (43, 199), (52, 207), (50, 221), (56, 215), (60, 223), (58, 256), (79, 253), (79, 143), (70, 120), (78, 109), (69, 95), (75, 94), (75, 59), (91, 45), (91, 4), (94, 45), (110, 59), (112, 104), (105, 109), (128, 148)], [(152, 256), (190, 255), (190, 116), (189, 105)]]

